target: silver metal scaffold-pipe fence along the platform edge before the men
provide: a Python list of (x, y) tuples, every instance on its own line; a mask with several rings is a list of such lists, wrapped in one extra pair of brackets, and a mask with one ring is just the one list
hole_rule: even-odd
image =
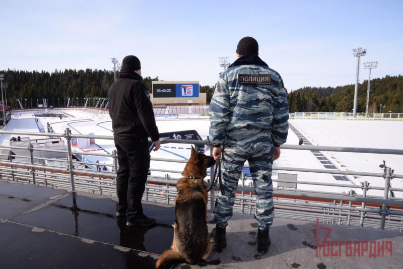
[[(0, 154), (0, 179), (28, 182), (42, 186), (51, 186), (54, 188), (68, 189), (75, 191), (87, 191), (109, 196), (116, 196), (116, 174), (117, 170), (117, 154), (86, 152), (85, 155), (106, 156), (113, 159), (112, 172), (97, 171), (86, 168), (75, 168), (73, 156), (82, 155), (83, 152), (72, 150), (72, 138), (93, 138), (113, 140), (111, 136), (88, 136), (82, 134), (72, 134), (69, 128), (64, 133), (37, 133), (37, 132), (15, 132), (0, 131), (3, 133), (17, 134), (19, 136), (51, 136), (64, 138), (66, 140), (66, 151), (56, 151), (49, 149), (37, 149), (30, 145), (25, 147), (1, 146), (3, 152), (9, 151), (7, 154)], [(207, 141), (191, 141), (191, 140), (173, 140), (162, 139), (162, 144), (193, 144), (197, 146), (208, 145)], [(24, 149), (30, 152), (27, 156), (16, 156), (12, 154), (13, 149)], [(354, 153), (374, 153), (374, 154), (397, 154), (403, 155), (403, 150), (393, 149), (368, 149), (368, 148), (342, 148), (342, 147), (323, 147), (323, 146), (296, 146), (283, 145), (282, 149), (286, 150), (314, 150), (314, 151), (333, 151), (333, 152), (354, 152)], [(33, 156), (33, 151), (51, 151), (66, 153), (68, 158), (64, 160), (66, 168), (51, 165), (38, 165), (34, 160), (45, 162), (46, 158), (37, 158)], [(26, 162), (13, 161), (13, 157), (26, 158)], [(3, 160), (1, 160), (3, 159)], [(53, 159), (50, 159), (53, 160)], [(152, 161), (186, 163), (184, 160), (152, 158)], [(84, 165), (94, 165), (94, 163), (78, 162)], [(316, 185), (318, 190), (300, 190), (274, 188), (274, 204), (275, 214), (277, 217), (315, 221), (317, 218), (321, 222), (352, 225), (359, 227), (371, 227), (380, 229), (389, 229), (403, 231), (403, 199), (389, 196), (389, 191), (402, 192), (400, 188), (390, 188), (390, 180), (393, 178), (403, 178), (403, 175), (394, 174), (390, 167), (385, 168), (384, 173), (370, 173), (365, 171), (340, 171), (337, 169), (309, 169), (309, 168), (290, 168), (274, 166), (275, 170), (299, 171), (323, 174), (342, 174), (342, 175), (363, 175), (379, 177), (384, 180), (384, 187), (370, 186), (367, 181), (358, 185), (323, 183), (298, 181), (298, 184)], [(214, 167), (211, 168), (214, 171)], [(174, 178), (172, 174), (180, 174), (182, 171), (169, 169), (150, 168), (152, 175), (149, 176), (146, 185), (146, 191), (143, 199), (154, 203), (174, 204), (176, 192), (176, 183), (178, 178)], [(164, 177), (153, 175), (153, 171), (166, 173)], [(213, 176), (213, 175), (211, 175)], [(234, 212), (243, 214), (255, 213), (255, 195), (254, 188), (249, 177), (244, 173), (240, 178), (238, 186)], [(205, 179), (210, 180), (210, 179)], [(293, 183), (290, 180), (274, 179), (274, 182)], [(348, 187), (349, 193), (325, 192), (320, 190), (320, 186)], [(355, 190), (362, 189), (363, 194), (357, 194)], [(383, 196), (370, 195), (371, 190), (383, 190)], [(209, 208), (214, 208), (215, 195), (217, 188), (209, 193)]]

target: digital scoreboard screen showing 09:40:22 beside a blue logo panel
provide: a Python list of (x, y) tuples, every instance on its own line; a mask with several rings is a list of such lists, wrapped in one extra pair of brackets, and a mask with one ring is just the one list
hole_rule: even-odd
[(194, 83), (153, 84), (154, 98), (198, 97), (199, 85)]

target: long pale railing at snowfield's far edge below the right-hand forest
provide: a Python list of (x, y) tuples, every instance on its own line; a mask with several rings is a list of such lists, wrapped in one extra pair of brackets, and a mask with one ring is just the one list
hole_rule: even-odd
[(290, 119), (403, 120), (403, 113), (294, 112)]

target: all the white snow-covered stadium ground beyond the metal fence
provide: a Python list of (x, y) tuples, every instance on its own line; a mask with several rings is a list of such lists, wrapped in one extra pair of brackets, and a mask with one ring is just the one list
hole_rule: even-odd
[[(37, 117), (38, 126), (35, 129), (35, 119), (30, 115), (16, 115), (8, 125), (8, 130), (15, 131), (39, 131), (41, 126), (46, 126), (49, 122), (50, 126), (56, 133), (63, 133), (66, 127), (72, 130), (72, 133), (90, 134), (100, 136), (112, 136), (111, 119), (108, 114), (100, 114), (96, 111), (69, 110), (65, 111), (69, 117)], [(23, 122), (26, 119), (27, 124)], [(208, 117), (157, 117), (157, 125), (160, 132), (170, 132), (179, 130), (194, 129), (198, 132), (202, 139), (208, 137), (209, 119)], [(290, 120), (299, 132), (313, 145), (320, 146), (345, 146), (360, 148), (384, 148), (384, 149), (403, 149), (403, 122), (392, 121), (348, 121), (348, 120)], [(45, 127), (46, 128), (46, 127)], [(2, 138), (4, 136), (4, 139)], [(288, 140), (286, 144), (298, 145), (298, 137), (294, 131), (289, 130)], [(4, 141), (3, 141), (4, 140)], [(1, 135), (0, 141), (7, 144), (9, 137)], [(87, 149), (79, 149), (75, 147), (75, 151), (91, 150), (99, 153), (112, 153), (115, 149), (113, 140), (95, 140), (95, 146)], [(347, 171), (365, 171), (382, 173), (379, 168), (382, 160), (386, 161), (389, 167), (394, 169), (395, 174), (403, 174), (402, 164), (403, 156), (401, 155), (380, 155), (380, 154), (360, 154), (360, 153), (343, 153), (343, 152), (322, 152), (329, 163), (337, 169)], [(187, 160), (190, 156), (190, 145), (187, 144), (163, 144), (157, 152), (152, 152), (151, 157), (167, 158), (176, 160)], [(86, 155), (88, 162), (100, 164), (112, 164), (112, 159), (108, 157), (97, 157)], [(323, 164), (314, 156), (311, 151), (302, 150), (282, 150), (281, 158), (275, 161), (274, 166), (278, 167), (298, 167), (298, 168), (315, 168), (325, 169)], [(152, 161), (151, 168), (182, 171), (183, 163)], [(273, 171), (273, 179), (277, 179), (279, 171)], [(367, 180), (370, 186), (384, 186), (383, 178), (346, 176), (346, 180), (336, 180), (330, 174), (307, 173), (280, 171), (282, 173), (298, 174), (298, 181), (311, 182), (327, 182), (339, 183), (347, 185), (360, 185), (360, 182)], [(154, 176), (164, 176), (167, 172), (152, 171)], [(172, 178), (179, 178), (179, 173), (169, 173)], [(277, 187), (277, 183), (274, 182)], [(393, 179), (393, 187), (403, 188), (403, 180)], [(351, 187), (330, 187), (298, 184), (298, 189), (305, 190), (321, 190), (331, 192), (348, 192)], [(361, 193), (361, 189), (355, 189)], [(383, 191), (369, 190), (369, 195), (382, 195)], [(403, 197), (403, 194), (395, 193), (396, 197)]]

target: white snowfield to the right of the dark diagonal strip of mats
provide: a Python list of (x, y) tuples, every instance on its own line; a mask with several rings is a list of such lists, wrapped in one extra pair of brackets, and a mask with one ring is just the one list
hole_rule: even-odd
[[(313, 145), (403, 150), (403, 122), (303, 119), (291, 120), (290, 122)], [(289, 140), (287, 144), (294, 143), (290, 143)], [(324, 152), (324, 154), (339, 170), (383, 173), (383, 169), (379, 165), (385, 160), (386, 165), (394, 169), (395, 174), (403, 174), (402, 155), (347, 152)], [(300, 167), (298, 163), (295, 165)], [(370, 186), (384, 186), (383, 178), (368, 176), (356, 178), (349, 176), (349, 178), (358, 185), (366, 180), (370, 182)], [(403, 188), (403, 180), (393, 179), (391, 185), (392, 187)], [(370, 190), (368, 194), (382, 195), (382, 191)], [(395, 194), (396, 197), (403, 197), (401, 193)]]

